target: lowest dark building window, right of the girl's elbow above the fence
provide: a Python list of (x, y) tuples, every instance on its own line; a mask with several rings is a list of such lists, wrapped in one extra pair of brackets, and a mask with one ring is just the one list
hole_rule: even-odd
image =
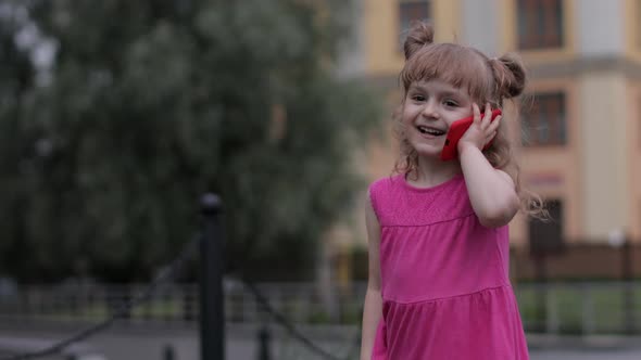
[(563, 202), (546, 200), (545, 208), (550, 213), (549, 221), (529, 219), (528, 233), (530, 252), (536, 255), (560, 253), (564, 249), (563, 241)]

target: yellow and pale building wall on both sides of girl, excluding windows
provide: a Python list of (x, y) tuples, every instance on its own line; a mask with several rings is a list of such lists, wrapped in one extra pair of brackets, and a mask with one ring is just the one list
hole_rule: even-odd
[[(398, 1), (362, 0), (364, 72), (389, 94), (388, 128), (403, 65)], [(517, 149), (524, 185), (563, 202), (564, 237), (604, 242), (621, 229), (641, 241), (641, 1), (563, 0), (564, 46), (537, 51), (517, 49), (516, 0), (435, 0), (431, 7), (437, 41), (470, 44), (490, 56), (515, 51), (529, 69), (528, 93), (565, 93), (567, 143)], [(519, 143), (519, 124), (512, 125)], [(390, 175), (398, 154), (386, 131), (389, 139), (373, 141), (367, 154), (370, 180)], [(361, 226), (354, 239), (364, 244)], [(511, 233), (517, 247), (527, 247), (524, 216)]]

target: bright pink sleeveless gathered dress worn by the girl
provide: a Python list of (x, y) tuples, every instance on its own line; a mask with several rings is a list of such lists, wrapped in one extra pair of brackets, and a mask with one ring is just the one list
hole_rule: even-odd
[(428, 189), (384, 178), (369, 194), (382, 295), (372, 359), (528, 359), (507, 275), (507, 227), (479, 223), (463, 175)]

